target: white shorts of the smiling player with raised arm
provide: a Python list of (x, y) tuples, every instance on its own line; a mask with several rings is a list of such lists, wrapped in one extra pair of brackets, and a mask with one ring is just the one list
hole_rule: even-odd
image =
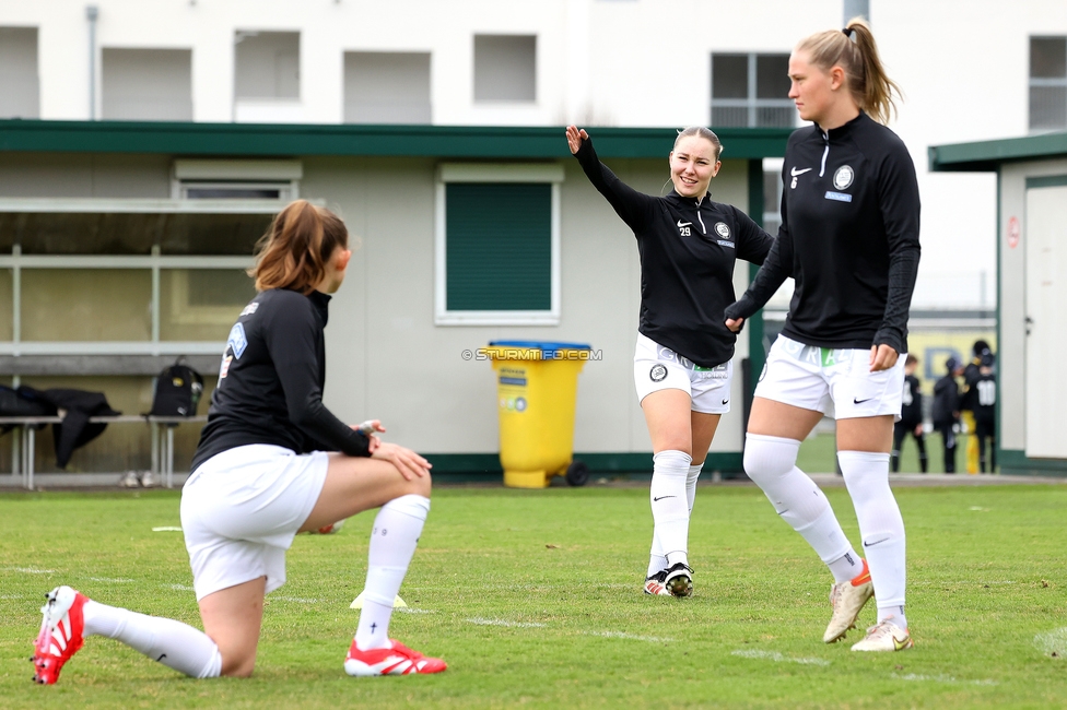
[(682, 390), (694, 412), (726, 414), (730, 411), (730, 380), (734, 363), (701, 367), (669, 347), (637, 333), (634, 350), (634, 387), (637, 401), (659, 390)]

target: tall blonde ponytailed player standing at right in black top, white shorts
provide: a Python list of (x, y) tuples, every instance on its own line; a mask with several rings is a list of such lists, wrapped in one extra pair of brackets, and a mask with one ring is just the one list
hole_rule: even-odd
[[(789, 57), (789, 98), (813, 125), (794, 132), (786, 146), (774, 247), (726, 309), (727, 326), (739, 330), (794, 277), (789, 316), (755, 391), (744, 470), (834, 576), (823, 641), (844, 638), (873, 591), (878, 624), (853, 650), (899, 651), (912, 639), (904, 521), (889, 486), (889, 452), (918, 270), (915, 167), (882, 125), (899, 91), (864, 21), (801, 40)], [(825, 496), (796, 466), (800, 441), (831, 411), (866, 561)]]

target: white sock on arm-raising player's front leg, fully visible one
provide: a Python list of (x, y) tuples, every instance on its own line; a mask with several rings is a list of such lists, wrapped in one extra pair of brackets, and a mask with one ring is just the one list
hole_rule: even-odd
[(685, 495), (685, 480), (692, 460), (684, 451), (676, 450), (660, 451), (653, 457), (648, 495), (655, 523), (653, 534), (659, 539), (667, 567), (678, 563), (689, 564), (689, 498)]

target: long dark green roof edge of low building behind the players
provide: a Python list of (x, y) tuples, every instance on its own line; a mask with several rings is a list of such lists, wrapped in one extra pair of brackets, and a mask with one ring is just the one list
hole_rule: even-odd
[[(724, 128), (725, 158), (781, 157), (790, 129)], [(590, 128), (603, 157), (666, 156), (672, 128)], [(0, 120), (0, 151), (555, 158), (563, 127)]]

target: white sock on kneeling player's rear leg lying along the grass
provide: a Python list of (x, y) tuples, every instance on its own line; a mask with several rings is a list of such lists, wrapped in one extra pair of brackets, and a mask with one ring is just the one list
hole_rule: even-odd
[(138, 614), (92, 600), (83, 608), (85, 636), (106, 636), (140, 651), (153, 661), (194, 678), (216, 678), (222, 673), (219, 647), (207, 634), (159, 616)]

